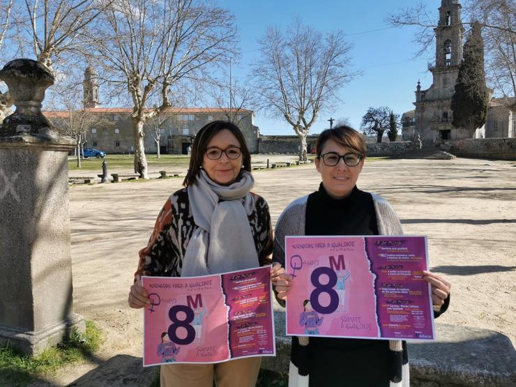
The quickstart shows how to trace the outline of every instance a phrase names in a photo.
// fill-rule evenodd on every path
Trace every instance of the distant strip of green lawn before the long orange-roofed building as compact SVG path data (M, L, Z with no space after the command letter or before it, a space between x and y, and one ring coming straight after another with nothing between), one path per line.
M156 158L155 155L146 155L149 167L160 167L165 171L173 172L174 168L186 168L190 162L190 156L187 155L161 155ZM128 168L132 169L134 163L134 155L107 155L105 158L86 158L81 160L81 167L77 167L77 159L73 156L68 157L68 169L70 171L93 171L98 174L102 173L102 162L106 160L107 170L110 168Z

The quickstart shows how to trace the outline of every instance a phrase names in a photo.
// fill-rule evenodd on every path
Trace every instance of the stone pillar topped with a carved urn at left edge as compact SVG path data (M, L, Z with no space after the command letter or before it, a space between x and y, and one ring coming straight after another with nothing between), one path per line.
M0 126L0 344L35 355L71 328L73 312L68 152L41 112L54 83L36 61L15 59L0 70L16 111Z

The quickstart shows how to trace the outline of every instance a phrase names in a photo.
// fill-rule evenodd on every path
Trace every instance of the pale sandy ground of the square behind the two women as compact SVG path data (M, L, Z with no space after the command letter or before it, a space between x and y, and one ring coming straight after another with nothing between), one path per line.
M316 190L313 165L258 171L255 192L273 222L291 200ZM126 303L137 250L182 179L70 188L75 311L107 333L98 362L141 357L142 313ZM384 196L406 234L429 237L430 264L453 282L441 323L489 328L516 342L516 163L488 160L379 160L358 187ZM70 383L95 365L61 372ZM93 372L91 372L93 373ZM87 377L83 377L87 383Z

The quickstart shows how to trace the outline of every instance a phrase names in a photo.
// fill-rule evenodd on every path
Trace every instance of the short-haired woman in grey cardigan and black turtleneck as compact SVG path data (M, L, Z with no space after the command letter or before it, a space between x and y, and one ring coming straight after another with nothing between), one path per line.
M321 185L280 215L273 261L284 267L285 236L403 234L400 219L385 199L356 188L364 159L365 144L356 130L337 126L319 135L315 166ZM432 285L437 316L448 308L450 283L423 274ZM292 278L287 273L280 277L275 291L282 301ZM409 386L407 346L400 340L293 337L289 386Z

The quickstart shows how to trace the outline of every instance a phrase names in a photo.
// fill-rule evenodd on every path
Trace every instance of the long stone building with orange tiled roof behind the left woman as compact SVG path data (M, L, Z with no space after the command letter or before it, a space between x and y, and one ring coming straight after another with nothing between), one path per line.
M84 148L96 148L106 153L132 153L134 136L131 113L126 107L98 107L99 88L96 70L89 66L84 71L84 100L86 112L98 119L97 125L88 128L85 134ZM158 118L147 121L144 137L146 153L157 153L157 142L153 139L156 128L159 135L160 153L186 154L195 134L215 120L227 121L229 109L218 107L176 107L169 108ZM54 125L59 126L59 119L69 116L67 111L43 112ZM238 127L241 128L251 153L258 152L259 128L254 125L254 112L239 109L236 112ZM153 135L151 135L151 133Z

